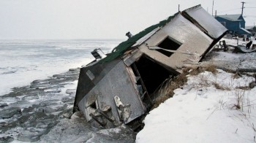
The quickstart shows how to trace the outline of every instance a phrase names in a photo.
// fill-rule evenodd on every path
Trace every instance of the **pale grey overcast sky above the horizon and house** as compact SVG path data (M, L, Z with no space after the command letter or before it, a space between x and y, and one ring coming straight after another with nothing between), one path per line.
M244 0L246 26L256 1ZM170 15L212 0L0 0L0 39L126 39ZM251 8L252 7L252 8ZM254 8L253 8L254 7ZM241 0L214 0L217 15L240 14Z

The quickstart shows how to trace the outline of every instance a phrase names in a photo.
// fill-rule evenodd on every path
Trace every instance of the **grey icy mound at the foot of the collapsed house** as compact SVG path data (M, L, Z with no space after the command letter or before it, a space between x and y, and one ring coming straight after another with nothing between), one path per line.
M82 113L76 112L71 119L61 120L39 142L135 142L135 133L121 125L117 128L91 128Z

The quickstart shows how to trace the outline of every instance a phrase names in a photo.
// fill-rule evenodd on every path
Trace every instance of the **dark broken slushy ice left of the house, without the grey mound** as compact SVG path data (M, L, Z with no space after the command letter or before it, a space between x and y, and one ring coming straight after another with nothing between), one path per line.
M34 142L61 118L71 117L78 73L79 69L70 69L0 96L1 137Z

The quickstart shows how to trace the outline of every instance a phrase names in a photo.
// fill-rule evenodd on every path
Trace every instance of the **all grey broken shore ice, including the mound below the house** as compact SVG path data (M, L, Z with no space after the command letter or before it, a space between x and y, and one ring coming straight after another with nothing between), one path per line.
M99 130L81 113L72 115L79 71L34 80L0 96L0 142L135 142L125 125Z

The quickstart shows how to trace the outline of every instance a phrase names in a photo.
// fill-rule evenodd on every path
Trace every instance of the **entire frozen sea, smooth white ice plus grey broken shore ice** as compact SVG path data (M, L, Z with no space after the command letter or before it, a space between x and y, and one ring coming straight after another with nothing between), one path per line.
M122 125L92 128L72 114L80 67L121 40L0 40L1 142L135 142Z

